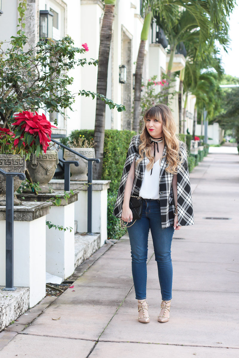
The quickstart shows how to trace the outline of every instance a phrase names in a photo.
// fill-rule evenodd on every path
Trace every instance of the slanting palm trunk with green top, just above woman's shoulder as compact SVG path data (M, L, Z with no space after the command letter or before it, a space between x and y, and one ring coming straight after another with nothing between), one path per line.
M140 98L141 98L142 72L143 72L143 64L144 64L144 50L145 50L145 42L148 39L151 19L152 19L152 11L149 11L144 18L144 24L141 32L141 41L139 45L139 52L137 57L136 70L135 70L133 131L137 133L139 132Z

